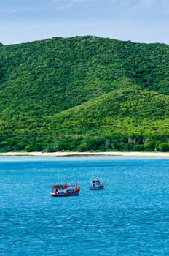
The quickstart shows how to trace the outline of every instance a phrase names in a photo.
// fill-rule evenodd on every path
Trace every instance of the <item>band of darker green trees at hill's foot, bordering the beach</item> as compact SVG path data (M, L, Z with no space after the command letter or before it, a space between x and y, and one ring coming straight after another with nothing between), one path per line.
M49 140L47 136L37 138L20 138L17 136L11 136L5 138L5 142L1 143L0 152L8 151L43 151L43 152L55 152L55 151L169 151L168 136L157 136L149 138L145 141L142 136L135 135L128 138L127 136L114 135L106 137L95 138L74 138L71 136L62 136L61 138L55 138L51 136L52 140Z

